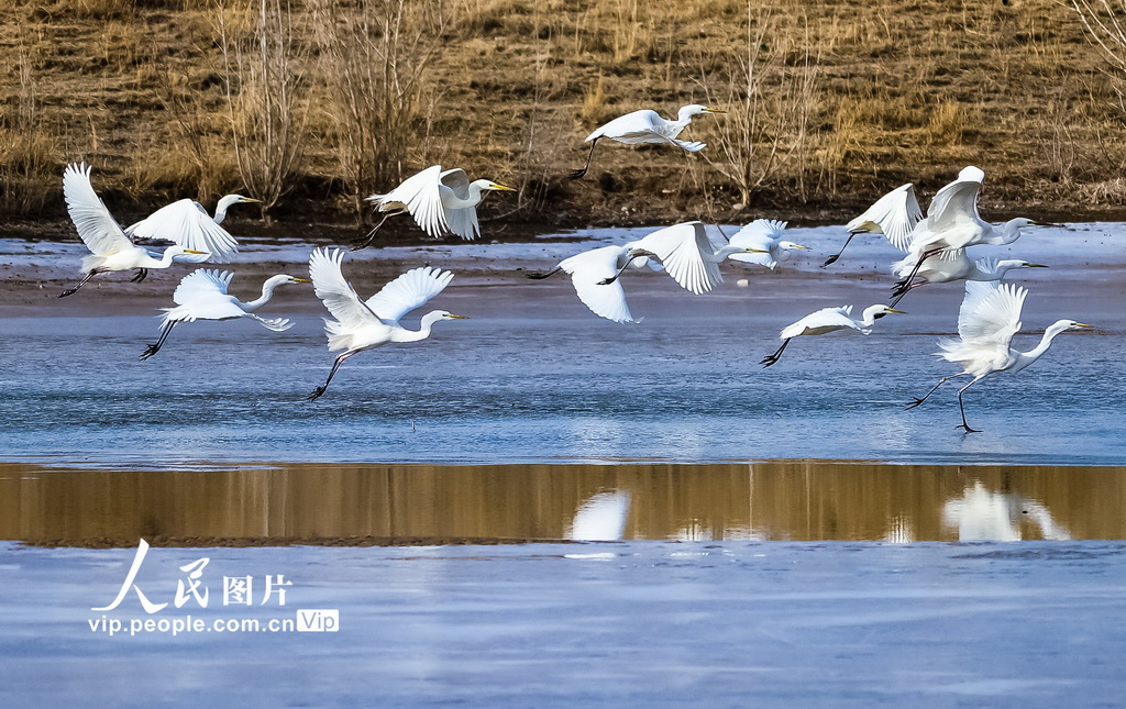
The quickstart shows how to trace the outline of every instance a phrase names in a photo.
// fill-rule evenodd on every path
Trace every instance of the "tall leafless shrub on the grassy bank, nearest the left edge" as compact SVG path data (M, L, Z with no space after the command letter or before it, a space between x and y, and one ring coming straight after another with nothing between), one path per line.
M250 17L218 0L214 19L235 162L265 214L292 188L302 156L307 45L287 0L257 0Z

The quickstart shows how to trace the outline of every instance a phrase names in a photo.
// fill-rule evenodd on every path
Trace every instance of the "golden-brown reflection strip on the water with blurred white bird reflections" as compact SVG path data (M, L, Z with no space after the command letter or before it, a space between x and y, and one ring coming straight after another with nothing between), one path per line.
M133 546L536 539L1126 539L1126 468L0 465L0 539Z

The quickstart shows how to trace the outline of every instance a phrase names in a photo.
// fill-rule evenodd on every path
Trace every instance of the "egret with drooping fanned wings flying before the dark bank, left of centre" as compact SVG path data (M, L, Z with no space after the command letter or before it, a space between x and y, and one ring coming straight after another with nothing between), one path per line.
M432 165L413 174L386 195L372 195L366 200L375 205L377 212L386 213L367 235L358 241L352 251L364 249L375 239L388 217L409 212L419 227L435 239L444 234L457 234L472 241L481 235L477 225L477 205L489 190L516 191L492 180L470 181L465 170L455 168L441 170Z

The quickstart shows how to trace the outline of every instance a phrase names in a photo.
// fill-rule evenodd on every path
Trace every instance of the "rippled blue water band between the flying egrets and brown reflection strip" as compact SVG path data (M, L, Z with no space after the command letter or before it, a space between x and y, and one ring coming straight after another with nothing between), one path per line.
M452 288L440 305L473 320L438 323L423 343L354 357L315 402L305 397L332 360L315 302L296 314L267 313L294 316L282 334L250 322L181 325L146 362L137 356L155 334L149 303L136 316L8 317L0 455L134 466L1126 463L1120 311L1109 322L1103 314L1098 332L1061 335L1024 373L975 385L967 416L984 432L966 436L955 428L953 385L920 409L902 406L956 371L931 352L937 333L953 329L957 287L927 303L911 296L915 314L886 317L868 338L798 339L762 369L757 362L777 347L779 327L839 298L778 302L731 284L694 298L653 276L631 285L631 306L646 316L636 326L591 316L565 281ZM878 298L857 288L857 303ZM1053 308L1082 304L1038 293L1039 306L1030 296L1025 313L1035 334L1018 335L1020 349L1066 315Z

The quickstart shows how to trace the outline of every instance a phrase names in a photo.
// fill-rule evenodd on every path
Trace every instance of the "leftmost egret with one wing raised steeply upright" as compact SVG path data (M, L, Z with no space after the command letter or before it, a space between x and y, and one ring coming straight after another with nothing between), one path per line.
M207 252L188 249L176 244L164 250L160 257L136 246L125 235L122 227L114 221L105 203L93 191L90 183L92 168L83 163L71 163L63 171L63 197L66 199L66 210L78 235L90 250L91 255L82 258L84 276L73 288L59 294L60 298L73 295L79 288L90 282L99 273L109 271L128 271L136 269L132 282L141 282L151 268L168 268L172 260L184 254L206 255Z

